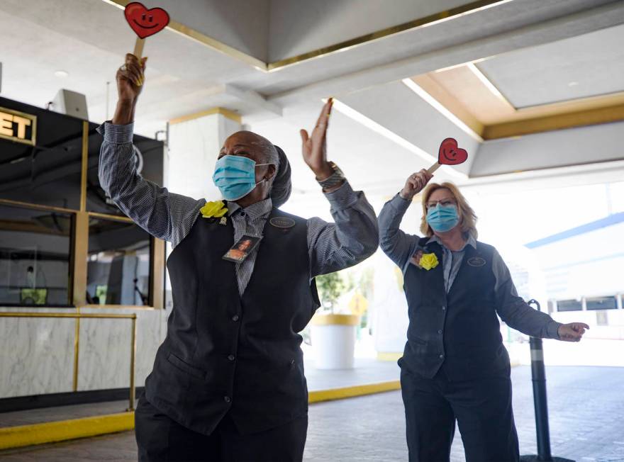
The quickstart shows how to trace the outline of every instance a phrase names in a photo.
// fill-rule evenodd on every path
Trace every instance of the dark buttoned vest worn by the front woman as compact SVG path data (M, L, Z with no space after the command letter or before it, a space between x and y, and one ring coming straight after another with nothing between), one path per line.
M301 332L316 308L309 280L307 222L277 209L294 227L267 224L254 272L238 294L231 220L198 218L167 260L174 308L167 337L145 381L147 400L176 422L211 434L229 412L248 434L304 414Z

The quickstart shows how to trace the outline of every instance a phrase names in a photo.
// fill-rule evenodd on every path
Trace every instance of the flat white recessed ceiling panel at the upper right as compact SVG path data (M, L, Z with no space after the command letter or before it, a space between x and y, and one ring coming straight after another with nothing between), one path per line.
M516 108L624 91L624 26L508 52L477 67Z

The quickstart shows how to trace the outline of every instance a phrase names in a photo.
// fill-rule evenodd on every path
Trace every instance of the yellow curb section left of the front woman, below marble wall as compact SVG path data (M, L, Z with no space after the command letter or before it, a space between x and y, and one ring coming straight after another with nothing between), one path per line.
M134 429L134 412L0 428L0 449L55 443Z

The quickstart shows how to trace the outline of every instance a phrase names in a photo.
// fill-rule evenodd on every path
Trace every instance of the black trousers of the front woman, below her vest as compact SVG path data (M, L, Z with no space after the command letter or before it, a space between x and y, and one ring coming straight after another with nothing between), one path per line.
M210 435L174 422L140 398L135 411L135 434L140 462L301 462L308 416L281 427L241 435L228 415Z

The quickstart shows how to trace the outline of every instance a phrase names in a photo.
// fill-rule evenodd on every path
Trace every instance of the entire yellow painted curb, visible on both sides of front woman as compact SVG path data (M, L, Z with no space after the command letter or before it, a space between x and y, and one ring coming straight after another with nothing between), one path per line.
M399 381L369 383L352 387L332 388L308 393L308 402L342 400L355 396L371 395L384 391L400 390ZM59 420L42 424L0 428L0 450L56 443L68 439L88 438L102 434L125 432L134 429L134 412Z

